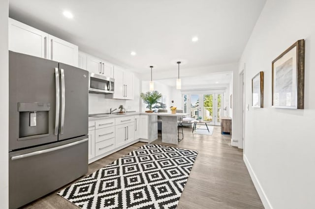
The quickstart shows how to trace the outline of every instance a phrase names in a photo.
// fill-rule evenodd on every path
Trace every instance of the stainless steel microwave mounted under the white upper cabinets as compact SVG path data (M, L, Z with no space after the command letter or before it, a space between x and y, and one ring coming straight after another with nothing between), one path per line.
M114 94L114 78L89 73L89 92L96 94Z

